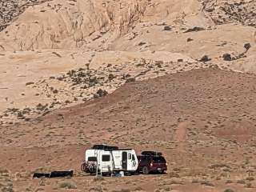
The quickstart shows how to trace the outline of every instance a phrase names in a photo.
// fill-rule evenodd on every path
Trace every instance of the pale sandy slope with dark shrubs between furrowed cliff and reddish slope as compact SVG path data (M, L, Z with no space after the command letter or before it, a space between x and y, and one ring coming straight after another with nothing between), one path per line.
M11 53L0 64L0 124L29 121L63 106L112 93L126 81L141 81L208 64L170 52Z

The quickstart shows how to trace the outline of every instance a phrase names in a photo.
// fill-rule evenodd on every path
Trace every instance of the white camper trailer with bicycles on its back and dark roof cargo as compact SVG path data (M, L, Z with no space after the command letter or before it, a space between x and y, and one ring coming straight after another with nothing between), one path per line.
M96 173L96 170L102 174L120 171L132 174L138 168L135 150L118 149L116 146L93 146L92 149L86 150L85 160L82 170L90 174Z

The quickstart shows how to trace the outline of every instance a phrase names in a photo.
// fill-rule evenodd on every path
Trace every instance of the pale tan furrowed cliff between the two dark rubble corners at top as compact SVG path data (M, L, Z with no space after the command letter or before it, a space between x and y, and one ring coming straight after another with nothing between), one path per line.
M23 6L9 3L14 14L10 14L8 21L17 18L25 7L27 9L8 29L2 31L0 49L107 50L111 42L127 34L138 22L153 25L158 22L177 22L179 18L183 18L183 14L184 17L190 17L198 15L200 10L197 0L161 3L157 0L54 0L38 6L28 6L34 5L33 3L39 4L38 1L25 3ZM2 29L8 25L8 22L0 23Z

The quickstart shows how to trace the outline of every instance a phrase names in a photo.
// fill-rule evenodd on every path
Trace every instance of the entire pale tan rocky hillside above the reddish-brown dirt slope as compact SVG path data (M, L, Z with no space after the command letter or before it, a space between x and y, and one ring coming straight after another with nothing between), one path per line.
M99 89L111 93L126 75L140 80L211 65L256 70L254 1L7 2L5 13L15 14L0 35L0 123L84 102ZM224 11L230 7L235 17ZM115 78L90 86L54 80L71 70Z

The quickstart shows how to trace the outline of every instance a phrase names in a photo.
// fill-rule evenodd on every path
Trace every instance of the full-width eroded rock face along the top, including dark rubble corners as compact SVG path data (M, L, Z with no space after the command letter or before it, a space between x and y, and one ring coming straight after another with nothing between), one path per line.
M138 23L256 26L252 0L8 0L0 7L0 50L110 50L114 40Z

